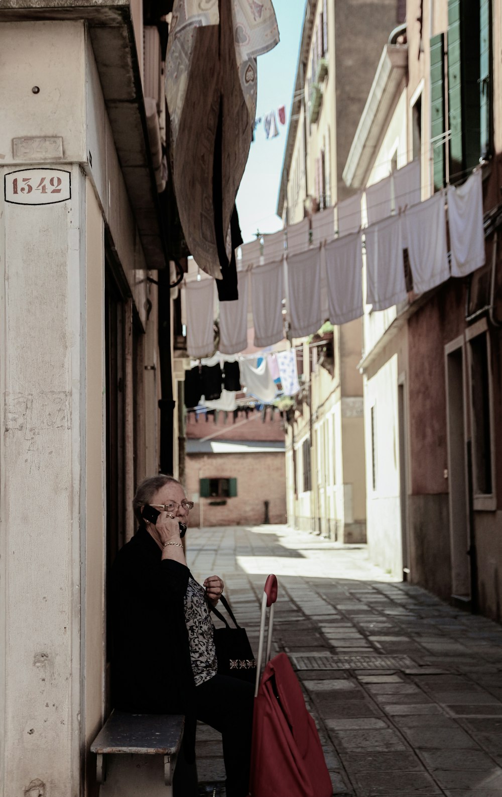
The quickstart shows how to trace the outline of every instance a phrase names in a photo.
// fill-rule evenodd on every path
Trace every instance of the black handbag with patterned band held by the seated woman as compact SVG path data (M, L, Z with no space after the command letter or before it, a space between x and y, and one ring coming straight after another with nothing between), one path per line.
M249 681L254 684L256 679L256 659L251 650L246 629L239 626L232 609L228 606L227 599L223 595L220 595L220 601L232 618L235 628L228 624L223 614L220 614L217 609L212 610L212 613L216 614L216 617L225 624L224 628L215 628L214 630L218 673L240 678L242 681Z

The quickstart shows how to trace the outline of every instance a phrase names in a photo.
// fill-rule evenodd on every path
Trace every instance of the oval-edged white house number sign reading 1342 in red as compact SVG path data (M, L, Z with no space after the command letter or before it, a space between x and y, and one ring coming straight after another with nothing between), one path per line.
M6 202L14 205L53 205L72 197L70 172L63 169L20 169L4 178Z

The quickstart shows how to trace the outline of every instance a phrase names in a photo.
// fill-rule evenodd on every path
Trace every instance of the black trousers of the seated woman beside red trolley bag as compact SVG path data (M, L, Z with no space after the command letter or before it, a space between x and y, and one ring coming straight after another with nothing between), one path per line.
M251 763L254 685L215 675L197 686L197 720L221 733L227 797L247 797Z

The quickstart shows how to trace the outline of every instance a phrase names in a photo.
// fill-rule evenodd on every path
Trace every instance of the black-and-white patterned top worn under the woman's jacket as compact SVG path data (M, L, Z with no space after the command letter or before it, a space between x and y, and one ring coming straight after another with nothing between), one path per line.
M216 675L216 647L204 587L191 575L185 594L185 622L189 631L193 679L199 686Z

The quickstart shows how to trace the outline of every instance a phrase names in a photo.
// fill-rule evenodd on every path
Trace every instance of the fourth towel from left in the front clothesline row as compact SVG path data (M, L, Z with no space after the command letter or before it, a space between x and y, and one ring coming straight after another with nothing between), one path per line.
M319 249L288 257L287 275L291 337L312 335L322 325Z

